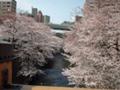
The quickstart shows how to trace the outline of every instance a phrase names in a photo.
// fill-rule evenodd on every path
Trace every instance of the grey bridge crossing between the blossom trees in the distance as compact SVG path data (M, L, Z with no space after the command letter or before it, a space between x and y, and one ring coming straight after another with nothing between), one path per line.
M62 24L48 24L48 26L50 26L52 29L55 30L66 30L66 31L70 31L70 25L62 25Z

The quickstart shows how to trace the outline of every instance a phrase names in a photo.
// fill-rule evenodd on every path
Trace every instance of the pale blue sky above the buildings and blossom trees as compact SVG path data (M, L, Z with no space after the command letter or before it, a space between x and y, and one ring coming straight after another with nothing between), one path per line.
M16 0L17 10L31 12L35 7L42 11L43 15L49 15L52 23L73 21L75 10L83 8L85 0Z

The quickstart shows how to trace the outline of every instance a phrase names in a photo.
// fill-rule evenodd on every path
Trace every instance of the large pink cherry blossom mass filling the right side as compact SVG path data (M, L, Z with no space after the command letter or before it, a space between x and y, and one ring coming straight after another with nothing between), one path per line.
M76 23L64 47L71 53L71 67L64 73L71 84L120 88L119 3L118 0L86 0L82 23Z

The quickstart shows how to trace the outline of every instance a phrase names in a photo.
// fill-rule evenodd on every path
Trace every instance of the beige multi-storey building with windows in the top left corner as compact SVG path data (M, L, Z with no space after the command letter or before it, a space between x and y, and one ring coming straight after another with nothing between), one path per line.
M16 13L15 0L0 0L0 14Z

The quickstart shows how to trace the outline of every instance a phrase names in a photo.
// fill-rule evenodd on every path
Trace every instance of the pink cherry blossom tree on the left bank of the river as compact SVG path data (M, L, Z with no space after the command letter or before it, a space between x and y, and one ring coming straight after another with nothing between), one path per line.
M54 36L48 26L31 17L16 15L16 20L5 20L0 29L2 37L14 45L21 67L18 75L31 78L43 73L41 67L48 62L46 59L52 59L62 48L62 40Z

